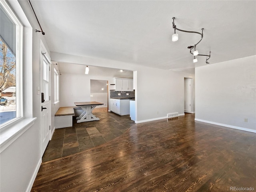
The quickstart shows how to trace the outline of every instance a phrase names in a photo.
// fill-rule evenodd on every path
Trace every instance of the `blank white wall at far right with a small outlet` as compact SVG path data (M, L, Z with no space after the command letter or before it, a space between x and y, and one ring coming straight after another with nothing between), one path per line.
M255 132L256 56L198 67L195 73L196 120Z

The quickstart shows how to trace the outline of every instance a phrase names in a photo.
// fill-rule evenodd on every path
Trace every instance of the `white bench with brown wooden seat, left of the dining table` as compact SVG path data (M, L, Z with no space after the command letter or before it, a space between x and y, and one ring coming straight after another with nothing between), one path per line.
M65 128L73 126L74 107L60 107L55 114L55 128Z

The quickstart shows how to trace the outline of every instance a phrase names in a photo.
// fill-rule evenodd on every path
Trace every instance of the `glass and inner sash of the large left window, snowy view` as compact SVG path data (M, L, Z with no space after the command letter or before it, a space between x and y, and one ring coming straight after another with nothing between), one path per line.
M22 25L4 2L0 2L0 128L22 118ZM4 95L4 92L13 94ZM2 94L4 96L2 96Z

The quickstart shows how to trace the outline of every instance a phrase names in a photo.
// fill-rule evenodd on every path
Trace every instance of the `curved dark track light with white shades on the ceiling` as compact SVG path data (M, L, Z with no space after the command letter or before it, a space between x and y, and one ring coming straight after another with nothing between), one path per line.
M195 31L185 31L185 30L181 30L181 29L178 29L178 28L176 28L176 25L174 24L174 19L175 19L175 17L173 17L172 18L172 28L174 28L174 34L172 35L172 41L177 41L179 38L178 38L178 34L176 33L176 30L178 30L178 31L182 31L182 32L186 32L186 33L197 33L197 34L200 34L201 35L201 39L200 39L200 41L198 42L198 43L200 43L201 42L201 40L203 39L203 30L204 30L204 28L202 28L202 33L199 33L199 32L195 32ZM197 46L197 44L198 43L196 43L196 44L194 44L194 45L190 45L190 46L188 46L188 49L190 49L190 54L193 54L194 55L194 59L193 59L193 62L195 63L195 62L197 62L197 58L195 58L195 56L197 56L197 55L199 55L199 56L207 56L206 57L206 63L208 64L208 59L210 59L210 57L211 57L211 52L209 52L209 55L202 55L202 54L199 54L198 53L198 50L196 50L196 46ZM192 53L191 52L191 50L194 48L194 52Z

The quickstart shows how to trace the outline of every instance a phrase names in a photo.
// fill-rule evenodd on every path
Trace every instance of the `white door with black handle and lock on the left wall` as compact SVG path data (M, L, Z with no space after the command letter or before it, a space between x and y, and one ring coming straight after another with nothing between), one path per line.
M41 156L50 140L50 56L41 44L40 90L41 90Z

